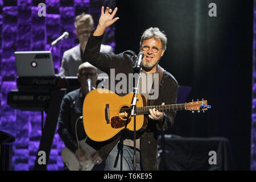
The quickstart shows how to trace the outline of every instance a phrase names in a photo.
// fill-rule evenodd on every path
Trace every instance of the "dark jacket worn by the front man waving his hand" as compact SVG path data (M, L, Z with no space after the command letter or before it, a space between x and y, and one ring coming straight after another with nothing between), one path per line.
M92 32L93 34L93 32ZM129 55L128 52L123 52L118 55L109 55L107 53L100 52L100 45L102 36L90 35L88 43L83 53L83 59L90 64L106 72L110 77L110 69L114 69L115 76L118 73L124 73L127 78L129 73L134 73L136 65L136 56ZM119 80L115 80L115 85ZM127 81L127 88L129 88L129 82ZM114 91L114 90L112 90ZM178 91L178 84L174 76L164 71L161 82L159 83L159 97L154 101L154 105L161 105L162 102L167 104L176 104ZM125 94L119 94L125 95ZM150 105L150 102L147 102ZM163 122L154 121L148 118L148 125L146 130L141 132L141 161L143 170L157 170L158 169L158 156L157 156L157 143L158 143L158 130L165 130L168 126L174 124L176 112L171 111L166 113ZM116 135L100 149L100 155L102 158L106 158L115 144L120 140L121 135Z

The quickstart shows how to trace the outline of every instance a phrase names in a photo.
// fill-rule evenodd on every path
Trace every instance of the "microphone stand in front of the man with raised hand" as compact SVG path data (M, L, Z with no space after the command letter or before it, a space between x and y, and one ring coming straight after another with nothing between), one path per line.
M135 67L136 69L136 67ZM138 94L138 89L139 89L139 80L141 79L141 73L142 73L142 68L139 70L139 77L138 77L138 82L137 86L134 89L134 94L133 94L133 101L131 102L131 117L134 117L134 128L133 128L133 135L134 135L134 141L133 141L133 169L136 171L136 102L137 102L137 94Z

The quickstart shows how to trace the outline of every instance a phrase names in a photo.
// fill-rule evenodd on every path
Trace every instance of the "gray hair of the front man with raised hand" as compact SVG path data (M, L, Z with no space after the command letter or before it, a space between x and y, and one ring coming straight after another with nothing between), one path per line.
M164 34L164 31L160 31L159 28L156 28L156 27L155 28L150 27L143 32L141 36L141 42L139 43L139 45L141 46L144 40L151 39L151 38L160 39L162 43L162 48L164 50L166 49L166 44L167 44L166 35Z

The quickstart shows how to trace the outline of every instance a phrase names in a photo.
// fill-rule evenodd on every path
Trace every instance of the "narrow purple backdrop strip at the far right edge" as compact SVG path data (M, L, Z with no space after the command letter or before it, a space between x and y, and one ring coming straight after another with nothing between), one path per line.
M254 0L254 22L253 22L253 101L251 113L251 170L256 171L256 0Z

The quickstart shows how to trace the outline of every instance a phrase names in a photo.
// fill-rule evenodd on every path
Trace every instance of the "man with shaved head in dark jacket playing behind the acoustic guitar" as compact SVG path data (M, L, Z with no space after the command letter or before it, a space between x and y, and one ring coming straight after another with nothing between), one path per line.
M86 156L86 151L81 150L81 147L78 148L75 131L77 128L77 138L79 140L85 139L86 134L84 131L84 126L82 125L82 122L77 122L77 127L75 125L77 118L82 116L82 105L84 98L86 94L89 93L89 88L86 81L90 78L90 80L92 80L92 87L96 88L97 68L86 62L79 66L78 72L77 78L81 87L69 92L63 97L58 119L58 133L60 138L64 141L65 146L76 155L76 158L79 159L80 162L85 162L88 160L88 156ZM90 146L94 144L97 145L95 142L90 142ZM97 150L99 146L94 145L92 147ZM94 164L100 164L102 162L98 152L94 153L91 158ZM100 167L97 166L95 168L100 169ZM64 166L64 169L68 170L67 166Z

